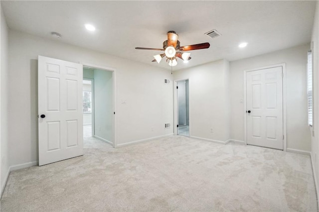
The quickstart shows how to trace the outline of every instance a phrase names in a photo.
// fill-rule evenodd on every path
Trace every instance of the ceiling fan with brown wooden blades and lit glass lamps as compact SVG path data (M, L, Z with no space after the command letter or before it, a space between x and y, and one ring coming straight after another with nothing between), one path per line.
M152 62L157 61L160 63L163 57L166 57L166 62L168 61L169 66L177 65L177 58L182 59L184 62L187 62L191 59L190 53L185 51L197 50L197 49L207 49L209 48L209 43L199 43L189 46L180 46L178 35L174 31L167 32L167 40L163 42L162 49L156 48L143 48L136 47L135 49L144 49L144 50L158 50L164 51L162 54L154 55L154 60Z

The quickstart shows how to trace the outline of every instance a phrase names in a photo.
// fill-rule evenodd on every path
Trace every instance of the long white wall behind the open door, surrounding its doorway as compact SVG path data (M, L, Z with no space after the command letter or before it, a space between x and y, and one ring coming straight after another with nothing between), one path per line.
M164 123L173 122L172 85L164 84L172 80L170 71L9 30L10 165L38 160L38 55L116 69L118 144L172 133L164 129Z

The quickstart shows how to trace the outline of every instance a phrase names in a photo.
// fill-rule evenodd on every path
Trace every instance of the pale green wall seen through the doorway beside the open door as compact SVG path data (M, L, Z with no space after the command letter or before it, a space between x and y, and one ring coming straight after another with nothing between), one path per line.
M113 143L113 72L94 69L95 135Z

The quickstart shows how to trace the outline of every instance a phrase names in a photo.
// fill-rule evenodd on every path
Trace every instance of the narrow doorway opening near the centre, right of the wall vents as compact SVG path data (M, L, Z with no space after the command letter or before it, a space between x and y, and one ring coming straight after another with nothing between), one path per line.
M189 137L188 80L177 81L177 135Z

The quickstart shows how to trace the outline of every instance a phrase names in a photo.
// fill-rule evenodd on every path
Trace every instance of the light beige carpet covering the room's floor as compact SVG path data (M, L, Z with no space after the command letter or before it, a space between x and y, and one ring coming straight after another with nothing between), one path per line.
M11 172L1 211L317 211L310 157L171 136Z

